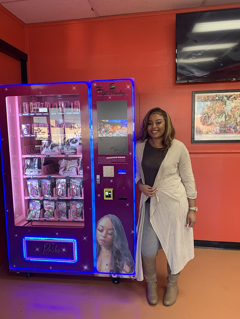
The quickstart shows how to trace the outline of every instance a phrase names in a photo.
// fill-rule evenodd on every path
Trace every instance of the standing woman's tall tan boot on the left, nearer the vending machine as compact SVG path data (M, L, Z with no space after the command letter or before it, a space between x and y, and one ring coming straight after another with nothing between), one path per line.
M143 274L148 283L147 299L151 305L158 303L157 297L157 273L156 273L156 255L150 258L142 256Z

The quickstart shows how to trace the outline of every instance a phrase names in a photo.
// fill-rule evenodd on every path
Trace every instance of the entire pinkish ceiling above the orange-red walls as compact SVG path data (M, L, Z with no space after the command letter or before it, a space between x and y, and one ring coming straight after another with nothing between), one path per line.
M24 23L73 20L112 15L230 4L234 0L0 0ZM240 3L240 0L235 0ZM199 9L201 10L201 9Z

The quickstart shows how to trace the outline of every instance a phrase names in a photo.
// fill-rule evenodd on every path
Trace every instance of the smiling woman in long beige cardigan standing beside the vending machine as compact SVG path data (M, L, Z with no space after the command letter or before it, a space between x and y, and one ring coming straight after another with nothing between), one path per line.
M163 303L177 299L180 270L194 257L196 186L188 150L174 139L170 116L161 108L145 115L137 137L136 178L141 193L137 225L137 280L148 283L148 302L158 302L156 256L167 257L167 290ZM143 271L142 271L143 266Z

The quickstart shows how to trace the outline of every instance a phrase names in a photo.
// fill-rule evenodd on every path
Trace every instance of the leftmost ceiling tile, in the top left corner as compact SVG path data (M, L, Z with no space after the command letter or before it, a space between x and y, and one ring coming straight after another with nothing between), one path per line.
M24 23L96 17L87 0L20 0L2 5Z

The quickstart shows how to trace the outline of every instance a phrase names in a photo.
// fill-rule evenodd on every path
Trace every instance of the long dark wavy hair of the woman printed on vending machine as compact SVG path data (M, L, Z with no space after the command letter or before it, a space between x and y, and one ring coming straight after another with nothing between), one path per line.
M134 261L130 250L128 248L128 241L124 232L123 225L118 217L115 215L105 215L101 219L99 219L96 227L96 236L98 231L98 225L100 221L104 218L109 218L113 225L114 235L113 235L113 243L111 247L111 258L110 265L112 269L110 272L115 273L126 273L124 267L127 265L130 268L130 271L127 273L132 274L134 272ZM101 246L96 240L96 248L97 248L97 260L101 252Z

